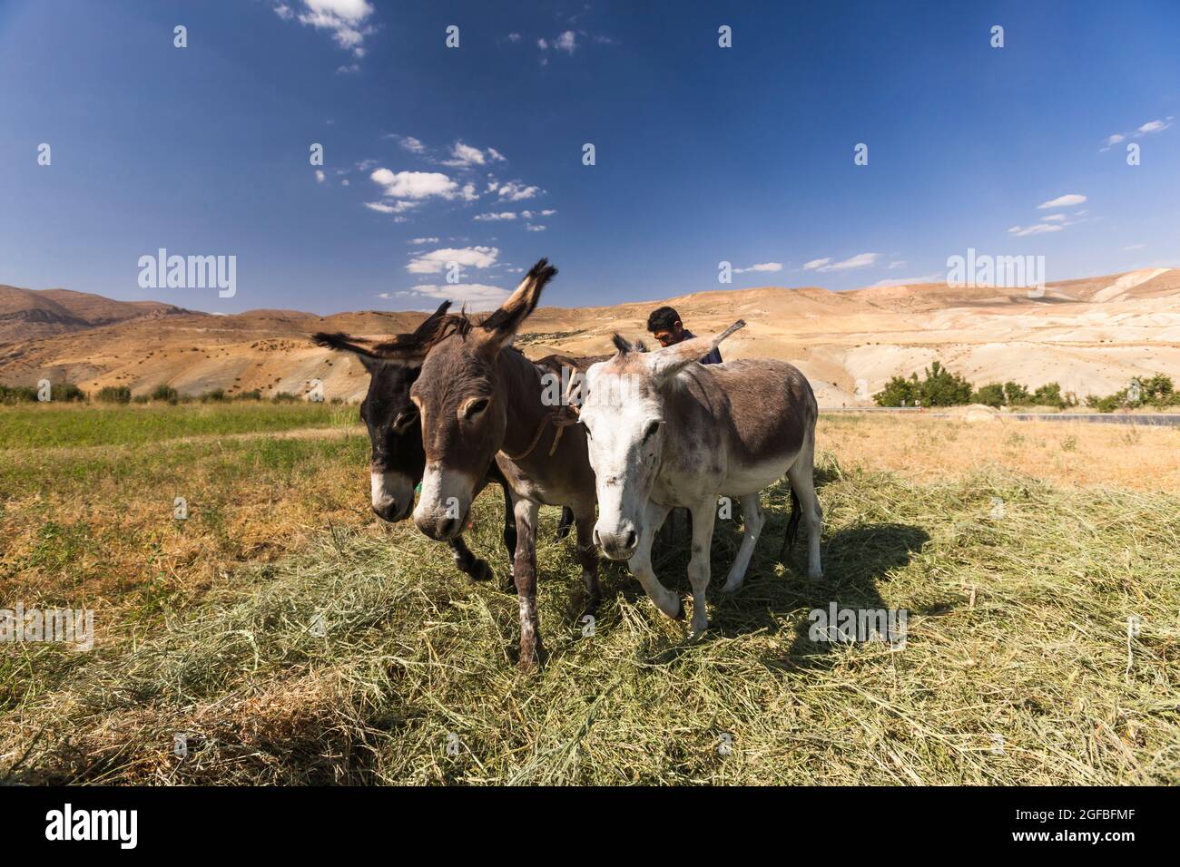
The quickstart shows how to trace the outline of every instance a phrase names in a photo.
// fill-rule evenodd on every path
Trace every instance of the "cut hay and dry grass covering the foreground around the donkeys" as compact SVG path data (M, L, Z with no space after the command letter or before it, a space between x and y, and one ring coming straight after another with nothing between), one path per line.
M184 413L199 409L171 407L159 429L189 438ZM288 429L330 423L283 418ZM688 639L621 564L604 564L588 635L573 541L553 539L557 510L545 510L548 659L522 676L514 596L470 583L413 526L368 514L367 438L330 433L132 436L93 455L26 439L0 455L0 607L84 598L98 632L90 652L0 644L0 780L1180 780L1180 497L1058 487L1001 467L913 481L866 468L851 446L826 451L821 421L824 579L804 577L801 550L786 567L773 561L780 487L763 498L746 586L710 593L704 636ZM31 460L39 475L11 466ZM186 486L206 493L178 523L171 488ZM96 490L125 500L63 514ZM503 578L498 493L477 503L468 540ZM59 530L46 533L51 523ZM715 576L739 540L719 521ZM657 552L664 583L687 595L686 565L678 549ZM907 610L904 648L811 641L808 613L832 602Z

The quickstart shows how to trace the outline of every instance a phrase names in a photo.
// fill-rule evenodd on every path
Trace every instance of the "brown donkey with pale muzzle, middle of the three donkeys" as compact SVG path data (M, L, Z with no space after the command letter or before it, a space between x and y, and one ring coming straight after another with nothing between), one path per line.
M512 494L517 525L513 578L520 603L519 665L540 658L537 624L537 511L568 505L578 531L578 558L592 609L601 598L595 523L594 472L585 433L566 426L570 416L543 379L545 368L511 348L540 291L557 274L542 260L504 304L481 322L444 329L409 389L421 415L426 472L414 523L432 539L448 540L464 526L481 480L498 466ZM398 359L394 344L380 357Z

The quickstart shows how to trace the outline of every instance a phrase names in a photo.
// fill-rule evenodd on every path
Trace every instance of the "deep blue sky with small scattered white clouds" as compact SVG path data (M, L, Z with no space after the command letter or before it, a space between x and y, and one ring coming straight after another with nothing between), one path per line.
M0 0L0 283L326 314L540 256L558 306L1180 264L1174 0L721 6ZM140 288L162 247L236 295Z

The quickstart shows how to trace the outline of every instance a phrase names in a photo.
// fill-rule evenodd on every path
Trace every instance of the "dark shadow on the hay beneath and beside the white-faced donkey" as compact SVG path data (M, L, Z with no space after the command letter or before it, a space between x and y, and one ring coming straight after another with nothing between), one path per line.
M815 468L817 488L833 478L832 473ZM892 521L859 524L831 534L825 531L821 540L824 577L811 580L806 577L807 546L801 527L782 566L779 565L779 547L791 513L789 498L789 486L786 482L763 492L766 524L746 573L746 583L733 595L721 593L719 587L729 564L736 557L742 527L739 520L717 521L710 552L714 583L709 587L708 631L699 639L686 636L684 642L674 646L653 649L647 662L673 662L699 641L733 638L759 631L769 635L793 631L789 649L779 657L765 659L765 664L784 670L821 668L827 665L824 657L833 649L833 644L811 641L808 636L813 622L808 618L808 612L819 609L827 613L833 602L838 610L877 611L890 607L881 598L879 585L890 579L893 570L906 566L913 554L920 552L930 540L930 534L922 527ZM653 565L666 586L688 593L689 530L684 526L688 515L676 515L674 512L669 515L669 521L676 518L678 524L674 528L675 540L670 545L657 543L653 550ZM627 571L625 564L617 565L622 569L610 569L603 576L605 599L622 593L628 602L642 604L647 600L642 586ZM616 571L621 577L615 574ZM909 613L933 611L911 609ZM788 618L791 624L787 623Z

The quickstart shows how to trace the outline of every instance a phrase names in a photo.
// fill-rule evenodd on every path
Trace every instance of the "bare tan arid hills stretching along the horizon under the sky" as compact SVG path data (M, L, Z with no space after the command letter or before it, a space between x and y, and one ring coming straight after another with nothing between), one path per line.
M673 304L704 335L741 317L726 357L778 357L807 374L820 406L867 403L894 374L939 360L981 385L1060 382L1108 394L1133 376L1180 379L1180 269L1149 269L1025 289L945 284L720 289L614 307L539 308L517 346L537 357L609 350L610 335L644 337L648 313ZM314 346L314 331L387 335L421 313L250 310L229 316L162 302L111 301L65 289L0 285L0 382L77 382L86 390L166 383L182 393L222 388L359 400L368 376L354 359ZM650 342L650 341L649 341Z

